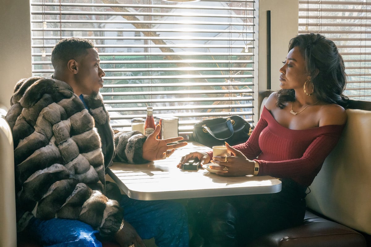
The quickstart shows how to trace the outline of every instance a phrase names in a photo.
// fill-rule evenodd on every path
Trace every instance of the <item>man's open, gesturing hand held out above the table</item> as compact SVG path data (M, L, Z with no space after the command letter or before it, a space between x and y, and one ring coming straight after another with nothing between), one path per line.
M167 138L164 140L157 139L156 136L160 133L161 126L158 124L155 130L147 137L143 143L143 158L145 160L154 161L162 160L169 157L174 153L175 148L184 147L187 142L176 143L173 145L167 145L168 143L173 143L183 140L183 137L178 136L174 138Z

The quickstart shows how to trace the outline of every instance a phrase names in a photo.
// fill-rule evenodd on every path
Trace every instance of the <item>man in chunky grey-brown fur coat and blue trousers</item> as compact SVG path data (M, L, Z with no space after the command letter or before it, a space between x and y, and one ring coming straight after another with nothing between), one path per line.
M139 201L106 182L112 160L146 163L166 158L182 137L158 140L138 131L114 134L99 89L104 71L91 41L59 41L50 79L22 79L14 88L7 120L13 131L17 228L44 246L188 246L184 207Z

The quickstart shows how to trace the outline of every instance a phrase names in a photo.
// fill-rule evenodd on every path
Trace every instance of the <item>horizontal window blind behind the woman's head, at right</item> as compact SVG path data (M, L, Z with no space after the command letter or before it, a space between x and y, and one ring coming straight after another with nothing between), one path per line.
M350 99L371 101L371 1L299 0L299 34L321 33L345 62Z

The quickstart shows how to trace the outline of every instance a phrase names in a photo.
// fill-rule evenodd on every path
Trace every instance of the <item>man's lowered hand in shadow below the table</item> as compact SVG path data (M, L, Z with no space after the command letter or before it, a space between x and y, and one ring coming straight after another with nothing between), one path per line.
M115 240L120 247L128 247L134 244L135 247L145 247L141 237L137 231L127 221L124 222L122 229L115 234Z

